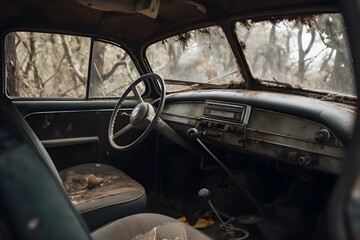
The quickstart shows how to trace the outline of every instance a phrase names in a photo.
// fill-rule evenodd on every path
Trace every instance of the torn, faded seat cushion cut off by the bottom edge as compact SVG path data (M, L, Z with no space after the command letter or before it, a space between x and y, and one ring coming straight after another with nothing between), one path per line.
M119 219L99 228L91 235L95 240L211 239L174 218L153 213L141 213Z

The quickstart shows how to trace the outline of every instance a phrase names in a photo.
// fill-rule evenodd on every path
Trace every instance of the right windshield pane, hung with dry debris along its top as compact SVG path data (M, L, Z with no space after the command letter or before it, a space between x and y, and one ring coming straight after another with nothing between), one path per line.
M255 78L356 95L341 14L243 21L236 23L235 31Z

